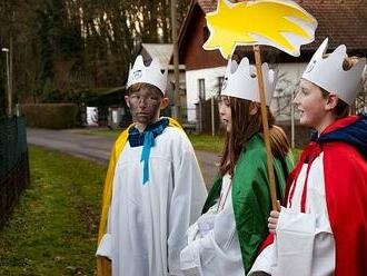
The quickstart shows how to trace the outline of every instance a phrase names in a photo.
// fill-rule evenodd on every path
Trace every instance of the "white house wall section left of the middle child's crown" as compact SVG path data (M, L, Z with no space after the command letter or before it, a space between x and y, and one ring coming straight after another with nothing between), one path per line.
M199 101L199 79L204 79L205 98L210 99L219 91L219 77L224 77L226 67L216 67L200 70L186 71L186 98L187 98L187 119L197 121L195 103Z

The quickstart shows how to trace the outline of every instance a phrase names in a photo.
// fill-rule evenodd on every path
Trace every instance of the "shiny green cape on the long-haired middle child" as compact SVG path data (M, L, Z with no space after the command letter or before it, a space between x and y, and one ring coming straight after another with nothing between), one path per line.
M282 198L286 179L294 167L291 155L284 161L274 158L277 190ZM222 178L217 176L205 203L202 213L219 198ZM268 217L271 210L267 156L262 138L255 135L245 146L232 177L232 205L242 262L248 273L260 243L268 236Z

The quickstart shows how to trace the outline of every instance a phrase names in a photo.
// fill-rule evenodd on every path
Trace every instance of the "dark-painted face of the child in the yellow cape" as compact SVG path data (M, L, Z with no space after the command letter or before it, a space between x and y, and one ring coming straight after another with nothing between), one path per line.
M148 87L141 87L126 97L133 121L142 127L157 121L162 99L162 93L158 89Z

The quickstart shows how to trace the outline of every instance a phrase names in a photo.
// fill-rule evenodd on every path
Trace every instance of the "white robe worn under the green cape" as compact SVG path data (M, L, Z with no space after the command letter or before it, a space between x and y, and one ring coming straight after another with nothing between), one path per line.
M224 201L227 193L227 200ZM188 230L188 245L181 252L181 269L187 276L245 275L228 175L222 178L220 195L220 203Z

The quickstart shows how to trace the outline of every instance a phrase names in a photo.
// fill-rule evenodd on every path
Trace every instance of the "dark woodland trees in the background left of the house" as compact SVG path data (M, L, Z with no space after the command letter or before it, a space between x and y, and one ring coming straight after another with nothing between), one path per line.
M188 3L178 1L179 22ZM170 42L169 4L169 0L0 1L0 46L12 40L16 101L47 101L56 93L121 86L142 41ZM4 83L1 73L0 91ZM0 96L0 107L1 102Z

